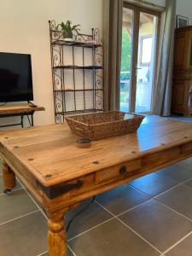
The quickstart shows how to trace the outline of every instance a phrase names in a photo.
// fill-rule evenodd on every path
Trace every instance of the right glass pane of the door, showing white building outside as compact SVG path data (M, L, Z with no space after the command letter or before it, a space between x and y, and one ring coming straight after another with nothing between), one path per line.
M153 101L157 17L140 12L139 18L135 112L146 113Z

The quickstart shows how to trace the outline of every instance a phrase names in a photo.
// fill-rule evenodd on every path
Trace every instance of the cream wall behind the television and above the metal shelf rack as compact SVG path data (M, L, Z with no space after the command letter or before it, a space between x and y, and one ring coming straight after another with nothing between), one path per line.
M72 20L82 32L102 28L102 0L2 0L0 51L32 54L34 103L46 108L35 125L55 122L49 50L49 23Z

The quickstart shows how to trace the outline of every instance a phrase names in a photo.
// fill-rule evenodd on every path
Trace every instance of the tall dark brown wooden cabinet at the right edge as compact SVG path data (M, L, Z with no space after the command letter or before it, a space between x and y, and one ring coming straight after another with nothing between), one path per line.
M189 89L192 86L192 26L176 29L172 82L172 113L192 114Z

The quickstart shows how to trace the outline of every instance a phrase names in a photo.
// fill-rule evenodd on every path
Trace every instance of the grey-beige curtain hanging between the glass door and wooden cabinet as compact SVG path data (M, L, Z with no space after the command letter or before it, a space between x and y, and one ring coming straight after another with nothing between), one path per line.
M162 15L160 55L153 109L155 114L162 116L171 114L175 20L176 1L166 0L166 11Z

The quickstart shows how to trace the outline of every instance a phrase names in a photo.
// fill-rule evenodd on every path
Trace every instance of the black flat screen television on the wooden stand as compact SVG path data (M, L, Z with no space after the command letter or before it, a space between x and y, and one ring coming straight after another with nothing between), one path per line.
M32 100L31 55L0 52L0 102Z

